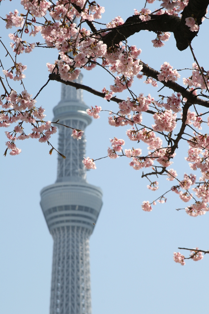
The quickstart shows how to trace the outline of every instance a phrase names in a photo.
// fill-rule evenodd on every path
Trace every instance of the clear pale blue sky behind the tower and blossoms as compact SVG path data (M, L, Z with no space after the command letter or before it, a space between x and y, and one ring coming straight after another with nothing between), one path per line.
M101 0L99 4L105 7L101 22L108 23L117 15L125 21L134 13L134 8L140 10L144 6L144 1ZM154 10L158 5L156 1L150 7ZM19 1L2 1L0 16L5 17L15 8L22 12ZM1 23L4 26L4 22ZM204 21L198 37L192 41L197 60L206 70L209 68L208 23L208 20ZM9 51L8 33L11 31L1 28ZM141 48L142 61L157 70L165 61L176 69L191 67L194 61L190 50L178 51L173 34L162 48L154 48L152 39L155 34L141 31L129 38L128 44ZM28 40L41 42L40 37ZM2 46L0 50L4 56ZM53 63L56 58L55 50L42 48L19 57L19 61L28 66L24 84L30 94L35 95L46 83L49 74L46 62ZM3 60L4 67L9 68L8 57ZM104 86L108 89L113 80L104 72L98 68L83 70L83 83L99 91ZM182 78L188 77L191 71L180 74L178 82L182 84ZM158 88L154 88L143 81L137 80L133 91L144 95L150 93L158 100L157 90L163 85L159 83ZM18 84L14 86L17 89ZM18 90L21 91L21 87ZM171 95L166 89L161 93ZM105 110L117 110L117 104L85 91L83 94L89 107L98 105ZM128 93L125 91L117 96L126 99ZM60 98L61 84L55 81L37 97L37 106L46 109L47 120L53 119L52 109ZM126 137L127 127L109 126L107 112L100 116L86 129L87 156L93 159L105 156L109 139L114 136L125 139L125 148L131 148L132 143ZM144 122L152 119L147 116L144 115ZM39 203L40 190L56 181L57 154L53 152L50 156L46 143L30 139L18 143L22 149L20 155L8 154L5 158L4 131L0 132L0 313L48 314L53 241ZM57 138L58 133L51 138L55 147ZM187 150L187 143L181 143L172 165L180 179L184 172L191 172L184 160ZM90 238L92 314L174 314L200 310L206 313L209 257L205 256L199 262L188 260L183 267L174 263L173 252L179 251L179 246L208 249L209 213L193 218L184 210L176 211L175 208L184 207L185 203L174 193L168 195L165 204L154 206L152 212L142 211L142 201L157 198L172 186L172 182L159 178L159 190L149 191L148 181L141 178L142 171L134 171L128 165L129 161L127 158L99 160L97 169L87 173L88 182L101 187L104 193L103 207ZM185 251L182 253L186 255Z

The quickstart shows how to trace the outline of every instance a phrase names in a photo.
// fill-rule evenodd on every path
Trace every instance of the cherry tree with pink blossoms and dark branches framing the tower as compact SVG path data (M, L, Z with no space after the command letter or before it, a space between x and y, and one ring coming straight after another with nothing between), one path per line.
M148 6L154 2L159 8L151 12ZM8 38L11 41L10 50L0 39L0 82L3 90L0 96L0 127L8 130L5 132L7 148L4 155L8 150L10 155L20 154L21 149L17 148L16 143L27 138L47 142L51 146L49 154L56 150L49 139L56 133L55 125L59 122L53 122L52 125L52 122L46 121L45 110L36 98L51 80L62 82L107 100L110 105L109 124L114 127L129 127L126 131L129 143L127 148L123 149L124 139L114 137L110 139L111 147L107 149L107 156L98 159L129 158L129 165L133 169L143 170L142 178L149 181L147 188L152 191L158 190L156 177L166 176L167 181L173 181L169 190L153 202L143 201L142 210L152 211L156 201L164 203L165 195L174 192L183 202L191 202L184 208L188 215L196 217L206 214L209 211L209 134L202 133L201 130L206 124L209 126L209 116L206 116L209 113L209 71L199 64L191 44L201 31L201 24L207 19L209 0L164 0L162 3L147 0L143 8L133 9L134 14L125 22L117 16L104 23L98 20L102 18L105 8L95 1L21 0L20 3L21 13L14 8L6 17L1 17L2 24L4 23L2 27L11 29ZM3 5L2 0L0 4ZM139 57L141 49L128 44L128 38L142 30L153 33L153 50L163 47L171 33L176 41L176 49L190 49L194 58L189 69L190 77L183 78L182 81L179 72L185 69L174 69L166 61L158 70L145 64ZM33 42L38 33L43 39L41 43ZM50 72L49 79L33 97L24 88L27 66L18 59L24 53L32 56L35 49L40 47L46 48L49 54L51 49L57 49L58 57L54 63L46 64ZM4 67L4 58L10 59L10 68ZM101 69L101 75L106 71L111 76L112 85L108 89L104 87L98 91L75 81L82 68L92 70L95 67ZM154 87L161 83L163 86L159 91L164 87L171 91L159 95L156 100L150 94L144 96L141 91L139 93L133 90L131 86L134 79L144 79L145 84ZM124 90L129 92L127 99L114 95ZM112 101L118 104L117 112L111 110ZM87 113L98 119L102 111L104 110L100 106L95 106L89 108ZM150 124L142 122L143 115L150 116ZM25 123L31 125L29 134L24 131ZM82 130L72 129L75 140L82 136ZM180 141L188 145L188 154L183 158L188 161L192 173L178 174L177 178L177 172L171 165ZM142 151L142 142L147 144L148 153ZM136 147L132 147L134 144ZM62 152L58 153L65 158ZM83 164L87 169L96 169L95 161L98 159L87 157ZM197 169L201 172L199 180L196 180L193 173ZM183 208L177 210L180 209ZM203 258L203 253L209 253L198 247L179 249L190 250L190 257L187 258L180 252L174 252L174 261L181 265L185 264L185 259L198 261Z

